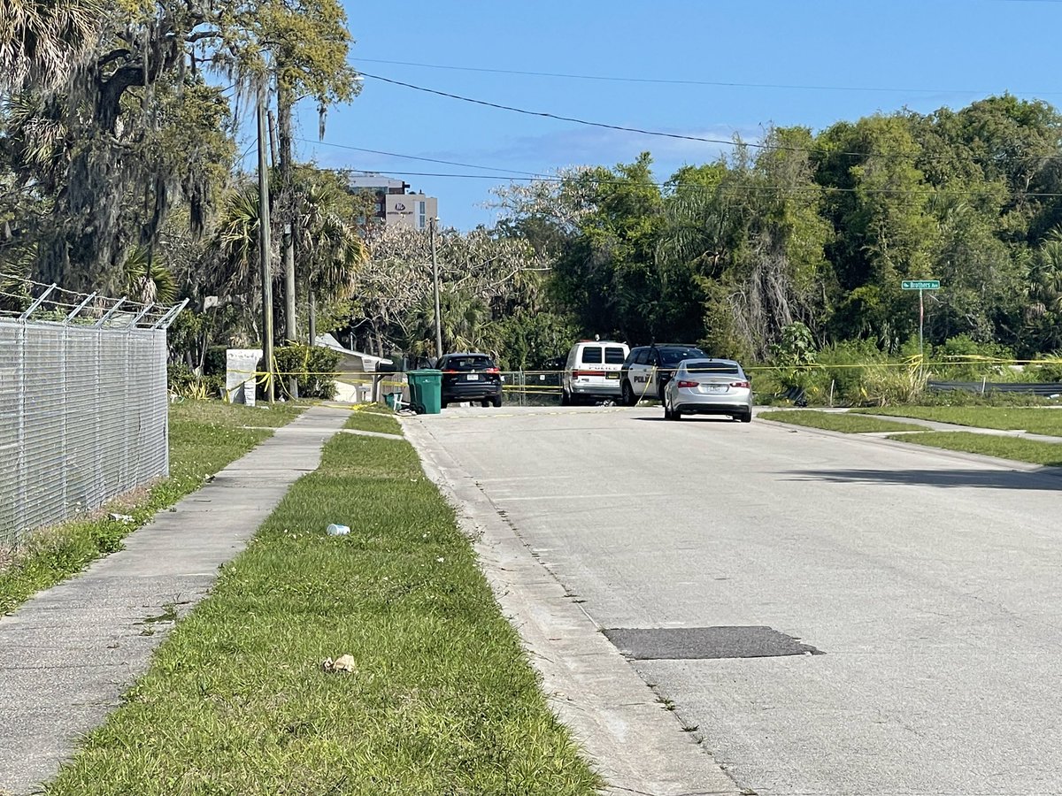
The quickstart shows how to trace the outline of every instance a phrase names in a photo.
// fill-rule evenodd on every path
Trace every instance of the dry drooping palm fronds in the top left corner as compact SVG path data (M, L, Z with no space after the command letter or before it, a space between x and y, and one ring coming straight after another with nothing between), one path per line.
M0 93L63 86L100 38L98 0L0 0Z

